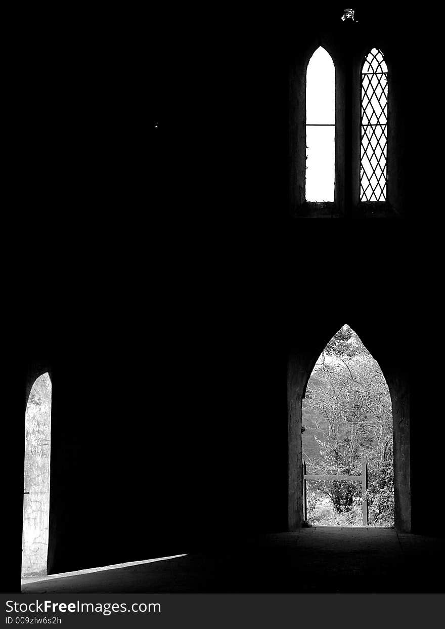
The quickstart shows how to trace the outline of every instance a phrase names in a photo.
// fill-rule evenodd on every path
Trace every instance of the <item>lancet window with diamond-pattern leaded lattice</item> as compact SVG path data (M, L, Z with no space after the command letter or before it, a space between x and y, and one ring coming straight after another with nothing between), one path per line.
M360 200L387 198L388 69L373 48L361 70Z

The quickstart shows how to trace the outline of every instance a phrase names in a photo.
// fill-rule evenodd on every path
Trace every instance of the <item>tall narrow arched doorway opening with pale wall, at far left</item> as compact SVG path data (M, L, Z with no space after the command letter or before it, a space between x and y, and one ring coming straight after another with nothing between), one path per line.
M47 574L50 515L51 379L34 382L25 411L25 481L21 574Z

